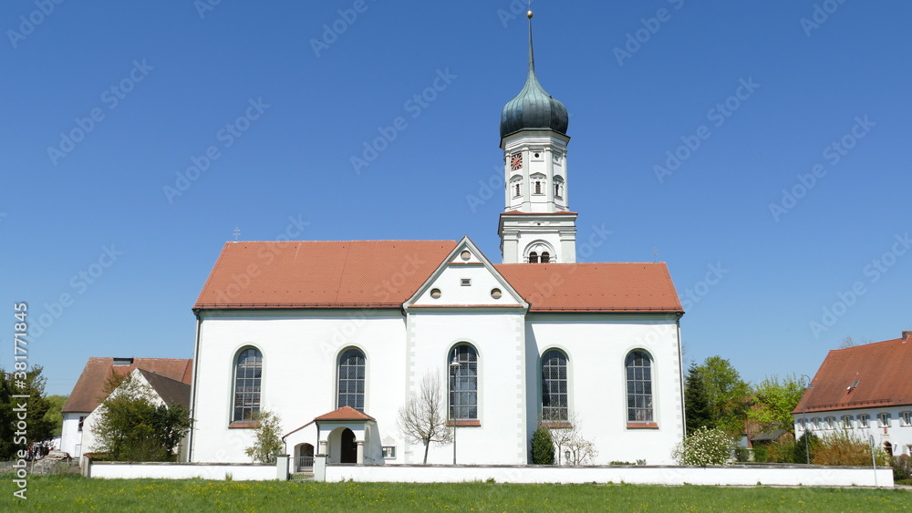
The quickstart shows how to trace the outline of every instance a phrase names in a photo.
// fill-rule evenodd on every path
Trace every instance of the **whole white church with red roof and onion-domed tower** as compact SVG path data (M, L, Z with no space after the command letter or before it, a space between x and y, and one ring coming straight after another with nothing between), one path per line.
M681 303L664 263L576 262L567 120L530 38L501 116L503 263L468 237L226 243L193 306L191 461L249 461L270 410L295 457L420 463L398 412L437 374L457 447L429 463L526 464L543 416L578 423L592 463L670 463Z

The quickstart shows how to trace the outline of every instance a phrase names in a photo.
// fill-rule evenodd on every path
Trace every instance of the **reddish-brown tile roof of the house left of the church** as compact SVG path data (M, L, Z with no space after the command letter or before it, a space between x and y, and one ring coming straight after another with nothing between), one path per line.
M176 358L132 358L129 365L114 365L114 358L92 357L88 359L82 374L73 387L73 392L67 397L63 405L64 413L91 412L104 400L105 382L111 371L116 374L130 374L139 367L150 373L159 374L179 381L185 385L191 384L192 360Z

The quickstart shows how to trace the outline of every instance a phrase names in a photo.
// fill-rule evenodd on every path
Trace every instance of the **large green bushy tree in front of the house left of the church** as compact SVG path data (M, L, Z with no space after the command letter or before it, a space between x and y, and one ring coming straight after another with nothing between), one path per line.
M187 409L161 404L134 374L112 372L104 391L108 396L98 405L92 428L98 451L115 461L173 461L192 426Z

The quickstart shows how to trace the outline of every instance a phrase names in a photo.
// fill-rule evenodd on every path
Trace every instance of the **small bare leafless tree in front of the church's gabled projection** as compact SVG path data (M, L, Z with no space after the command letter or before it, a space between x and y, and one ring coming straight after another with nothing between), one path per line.
M399 431L413 442L424 444L424 464L428 463L431 442L449 444L452 430L447 426L446 405L440 385L440 374L428 372L421 378L418 395L399 408Z

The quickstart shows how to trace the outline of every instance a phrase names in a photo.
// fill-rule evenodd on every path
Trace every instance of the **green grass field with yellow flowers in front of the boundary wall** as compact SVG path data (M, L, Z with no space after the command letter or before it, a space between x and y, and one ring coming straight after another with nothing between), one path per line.
M645 487L461 483L233 482L202 479L29 477L27 499L4 476L18 508L48 511L891 511L912 509L899 489ZM8 506L2 508L10 510Z

